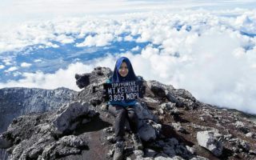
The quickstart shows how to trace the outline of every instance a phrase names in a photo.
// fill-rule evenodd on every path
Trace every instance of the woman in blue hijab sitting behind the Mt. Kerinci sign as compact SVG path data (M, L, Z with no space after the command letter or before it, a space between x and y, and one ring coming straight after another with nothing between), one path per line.
M140 80L134 74L134 69L130 63L130 60L126 57L118 58L112 77L110 77L106 83L113 82L127 82ZM144 88L145 89L145 88ZM110 101L108 102L108 110L115 117L114 130L115 130L115 152L114 160L122 159L122 152L124 149L124 135L125 135L125 122L126 119L130 124L130 130L132 131L132 139L135 149L142 150L142 142L138 134L138 115L134 110L136 100L122 100L122 101Z

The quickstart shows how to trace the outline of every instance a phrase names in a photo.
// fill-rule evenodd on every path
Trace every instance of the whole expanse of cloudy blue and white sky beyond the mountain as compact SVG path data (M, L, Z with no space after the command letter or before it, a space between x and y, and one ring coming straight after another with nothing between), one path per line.
M80 90L74 74L113 69L256 114L256 1L0 2L0 88ZM63 81L65 79L65 81Z

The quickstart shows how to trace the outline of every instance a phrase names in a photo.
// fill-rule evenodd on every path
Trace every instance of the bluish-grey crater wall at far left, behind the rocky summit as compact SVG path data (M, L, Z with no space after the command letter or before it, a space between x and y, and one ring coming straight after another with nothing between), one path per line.
M63 104L73 101L78 92L66 88L43 90L38 88L0 89L0 133L10 122L24 114L58 110Z

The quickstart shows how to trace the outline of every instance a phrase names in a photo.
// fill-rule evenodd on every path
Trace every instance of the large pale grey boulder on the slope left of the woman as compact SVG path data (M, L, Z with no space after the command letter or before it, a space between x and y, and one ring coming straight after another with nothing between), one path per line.
M52 122L53 131L55 134L69 133L74 130L78 124L82 123L79 121L79 118L90 119L96 115L97 112L90 109L89 103L72 102L58 110L58 114Z

